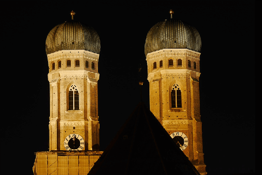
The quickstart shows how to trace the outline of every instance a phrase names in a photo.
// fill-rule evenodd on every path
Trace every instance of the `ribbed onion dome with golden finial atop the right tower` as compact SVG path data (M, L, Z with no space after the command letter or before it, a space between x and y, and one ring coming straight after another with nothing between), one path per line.
M145 54L162 49L190 49L200 52L201 38L197 29L181 20L166 19L154 25L147 34Z

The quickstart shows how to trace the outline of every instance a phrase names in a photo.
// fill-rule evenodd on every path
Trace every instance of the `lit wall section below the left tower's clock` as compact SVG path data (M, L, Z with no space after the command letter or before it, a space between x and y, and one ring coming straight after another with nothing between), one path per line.
M34 175L87 175L102 151L35 153Z

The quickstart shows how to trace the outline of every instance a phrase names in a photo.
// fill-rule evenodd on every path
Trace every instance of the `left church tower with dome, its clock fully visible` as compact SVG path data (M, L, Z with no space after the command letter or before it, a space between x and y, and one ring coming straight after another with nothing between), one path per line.
M97 32L73 15L49 32L49 150L99 150L99 52Z

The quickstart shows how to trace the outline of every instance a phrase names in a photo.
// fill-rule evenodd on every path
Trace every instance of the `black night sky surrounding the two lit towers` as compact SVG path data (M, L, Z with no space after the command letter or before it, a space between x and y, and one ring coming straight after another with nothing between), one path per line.
M143 101L149 107L145 40L150 28L170 18L169 10L173 9L173 18L195 26L202 39L200 113L208 174L255 172L255 1L1 1L1 4L1 68L4 69L1 101L5 104L1 114L1 175L33 174L34 152L49 149L45 40L54 26L70 20L71 10L76 12L75 19L92 26L101 40L98 64L101 151L140 101L140 63ZM258 5L261 7L261 2Z

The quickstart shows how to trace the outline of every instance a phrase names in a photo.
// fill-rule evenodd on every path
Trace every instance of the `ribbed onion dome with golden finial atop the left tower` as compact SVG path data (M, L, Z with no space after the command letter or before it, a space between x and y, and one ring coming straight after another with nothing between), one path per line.
M61 50L86 50L100 53L98 33L92 27L73 20L72 16L72 20L58 24L47 36L46 53Z

